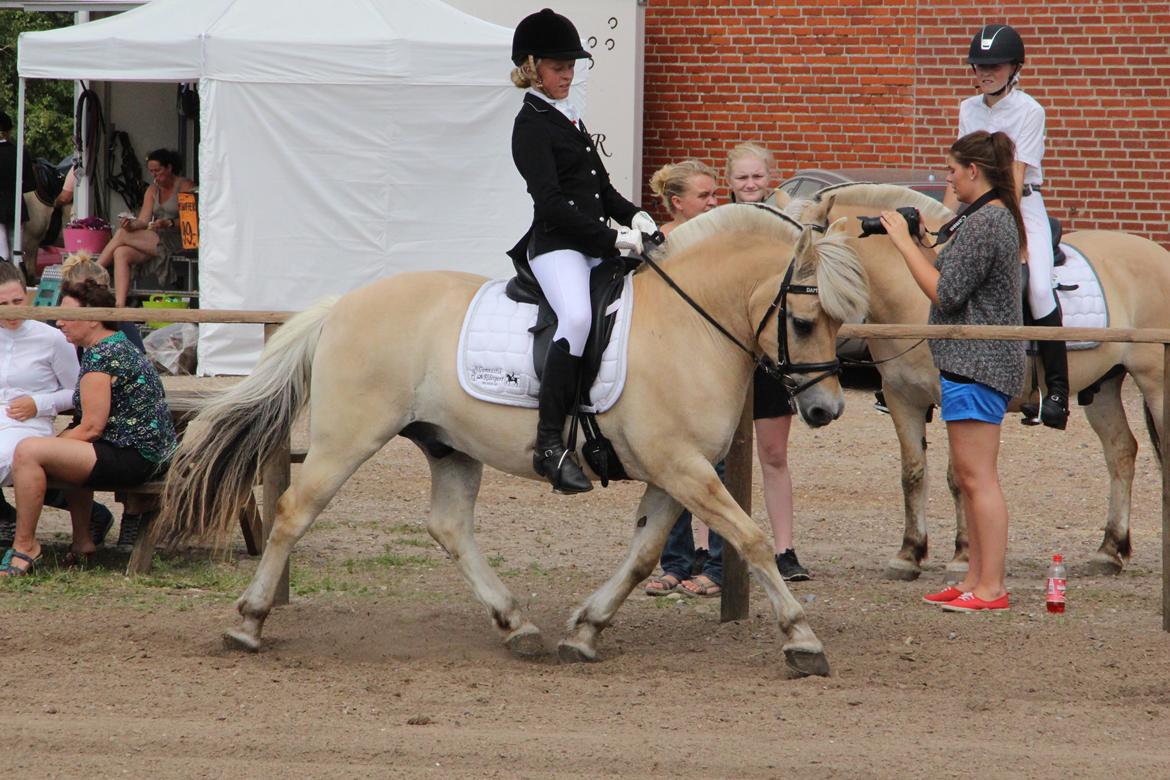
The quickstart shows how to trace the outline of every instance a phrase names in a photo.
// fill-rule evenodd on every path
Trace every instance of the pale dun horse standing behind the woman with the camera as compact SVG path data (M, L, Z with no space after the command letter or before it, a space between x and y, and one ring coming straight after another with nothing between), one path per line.
M937 230L952 214L938 202L904 187L874 184L837 185L821 189L812 200L798 200L785 212L806 225L827 225L839 220L874 215L896 206L915 206L927 227ZM869 323L925 323L930 304L914 283L906 263L886 236L851 239L861 257L872 290ZM1170 253L1157 243L1126 233L1082 230L1066 235L1064 242L1093 261L1108 304L1110 326L1170 327ZM902 455L902 491L906 497L906 531L902 548L887 564L886 574L894 579L914 579L927 555L925 517L925 416L940 401L938 372L925 343L914 340L873 339L869 351L882 377L886 403L894 419ZM904 352L904 354L902 354ZM901 356L901 357L896 357ZM1124 373L1114 371L1120 366ZM1094 571L1106 574L1121 572L1130 554L1129 510L1134 482L1134 458L1137 441L1126 420L1121 403L1124 374L1137 382L1145 400L1147 424L1150 414L1155 449L1162 440L1162 346L1158 344L1101 344L1092 350L1068 353L1069 384L1079 392L1094 384L1100 389L1085 408L1089 424L1101 440L1109 469L1109 510L1104 539L1090 559ZM1031 372L1030 372L1031 375ZM1031 384L1031 382L1030 382ZM1031 394L1034 388L1025 389ZM1017 399L1012 409L1019 408ZM1060 433L1049 432L1058 444ZM1158 451L1161 457L1161 451ZM955 559L950 571L966 567L966 527L958 491L948 474L955 498L957 533ZM1041 477L1042 478L1042 477Z

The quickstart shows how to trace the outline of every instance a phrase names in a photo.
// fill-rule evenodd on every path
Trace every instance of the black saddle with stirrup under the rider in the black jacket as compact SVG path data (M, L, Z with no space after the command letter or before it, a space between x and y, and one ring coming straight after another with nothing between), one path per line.
M603 260L590 272L590 304L593 312L593 324L589 339L585 341L585 352L581 356L581 373L578 384L577 406L573 409L573 422L569 433L569 449L576 449L577 426L580 424L585 432L585 443L581 446L581 455L585 462L597 474L601 481L601 486L607 488L611 479L628 479L621 461L608 439L601 434L597 423L597 415L581 409L583 403L590 403L589 393L593 380L597 379L601 366L601 356L610 344L613 334L613 325L617 320L614 301L621 295L626 275L638 268L641 260L638 257L611 257ZM538 378L544 374L544 360L552 345L552 336L557 332L557 315L541 291L541 284L532 274L528 257L512 257L512 265L516 267L516 276L508 281L504 295L516 303L535 304L537 308L536 324L529 329L532 334L532 370Z

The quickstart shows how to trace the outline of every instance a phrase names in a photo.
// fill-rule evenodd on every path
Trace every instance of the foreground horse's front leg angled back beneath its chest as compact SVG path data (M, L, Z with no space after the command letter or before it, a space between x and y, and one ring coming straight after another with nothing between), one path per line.
M569 619L569 634L557 647L558 655L565 662L596 661L597 639L618 607L629 596L639 582L654 571L666 537L679 519L682 505L652 484L646 485L646 492L638 504L634 537L629 543L629 552L605 585L590 595L585 603L573 612Z

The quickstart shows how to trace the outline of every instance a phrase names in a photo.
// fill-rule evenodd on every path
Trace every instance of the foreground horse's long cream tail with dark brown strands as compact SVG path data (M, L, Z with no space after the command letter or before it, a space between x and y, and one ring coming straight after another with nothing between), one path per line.
M158 516L158 539L174 546L201 540L222 550L252 502L257 454L288 441L309 400L309 378L322 326L337 298L282 325L242 382L206 401L171 461Z

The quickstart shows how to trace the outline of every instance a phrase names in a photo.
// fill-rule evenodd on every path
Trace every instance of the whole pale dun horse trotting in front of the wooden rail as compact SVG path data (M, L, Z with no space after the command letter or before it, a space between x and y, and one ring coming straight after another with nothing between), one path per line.
M810 378L813 363L835 361L838 324L865 312L865 276L844 236L801 234L775 209L717 208L675 230L663 254L661 267L679 287L751 351L780 352L779 326L771 322L779 302L784 354L793 364L808 361L805 373L790 365L791 381ZM805 285L814 281L819 295L792 295L785 308L778 290L790 261L792 278ZM211 401L192 423L170 469L161 536L171 543L202 538L222 545L250 497L256 453L282 441L303 406L310 412L304 465L278 502L263 558L238 602L243 622L226 634L229 647L259 648L292 545L358 465L401 435L431 465L428 532L488 607L509 649L544 651L539 630L473 537L484 463L536 478L536 413L475 400L456 377L461 318L452 313L467 310L483 282L457 272L402 274L317 304L281 327L253 374ZM815 290L793 287L792 292ZM749 562L785 635L792 671L828 674L821 643L777 573L763 532L711 465L728 451L756 357L736 348L660 276L638 274L633 295L625 391L598 421L626 472L647 486L629 552L573 613L558 647L562 660L597 657L599 634L653 571L667 532L687 506ZM844 394L835 375L807 387L798 403L810 424L837 419Z

